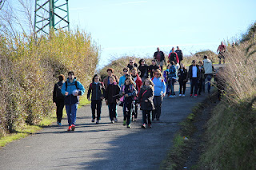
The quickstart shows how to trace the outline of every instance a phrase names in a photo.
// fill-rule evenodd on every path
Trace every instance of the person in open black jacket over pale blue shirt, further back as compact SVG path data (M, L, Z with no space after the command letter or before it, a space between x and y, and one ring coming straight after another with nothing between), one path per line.
M196 65L196 61L192 61L192 65L190 65L188 78L190 79L190 97L193 96L194 89L194 97L198 97L198 78L199 78L200 70L199 65Z

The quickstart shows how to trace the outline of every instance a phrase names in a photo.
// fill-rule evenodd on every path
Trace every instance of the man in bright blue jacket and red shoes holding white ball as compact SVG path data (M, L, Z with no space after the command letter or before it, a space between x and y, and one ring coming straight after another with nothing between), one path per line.
M78 96L82 96L83 93L85 93L85 88L77 81L76 77L74 77L74 72L70 71L68 78L62 85L62 94L65 95L64 104L66 105L66 114L69 123L67 131L74 131L79 102Z

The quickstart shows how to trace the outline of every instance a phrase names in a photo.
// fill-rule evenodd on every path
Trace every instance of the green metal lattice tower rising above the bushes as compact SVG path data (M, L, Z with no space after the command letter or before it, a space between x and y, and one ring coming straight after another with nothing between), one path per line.
M34 30L49 34L50 29L70 30L68 0L35 0Z

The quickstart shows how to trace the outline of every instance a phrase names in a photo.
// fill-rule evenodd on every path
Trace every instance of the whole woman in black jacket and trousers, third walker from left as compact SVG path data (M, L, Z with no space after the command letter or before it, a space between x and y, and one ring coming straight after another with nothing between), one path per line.
M91 99L90 99L91 93ZM102 99L105 96L105 87L104 84L101 82L100 76L95 74L93 77L92 83L89 85L87 99L91 101L90 108L92 113L92 120L91 122L95 121L95 109L97 109L97 121L96 125L99 124L99 120L101 120L101 113L102 113Z

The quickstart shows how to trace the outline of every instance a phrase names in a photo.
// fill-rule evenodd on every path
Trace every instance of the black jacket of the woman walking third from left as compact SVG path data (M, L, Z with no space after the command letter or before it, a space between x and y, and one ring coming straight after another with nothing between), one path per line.
M105 97L105 87L102 82L90 83L87 98L89 99L91 93L91 100L102 100L101 97Z

